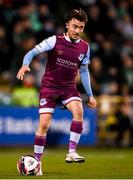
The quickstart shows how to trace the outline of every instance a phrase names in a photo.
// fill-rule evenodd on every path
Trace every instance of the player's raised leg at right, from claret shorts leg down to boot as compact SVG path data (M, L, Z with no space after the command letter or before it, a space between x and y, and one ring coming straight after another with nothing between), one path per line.
M84 158L76 153L83 129L83 106L82 100L76 87L65 89L62 96L62 104L72 112L73 119L70 126L69 153L66 162L84 162Z

